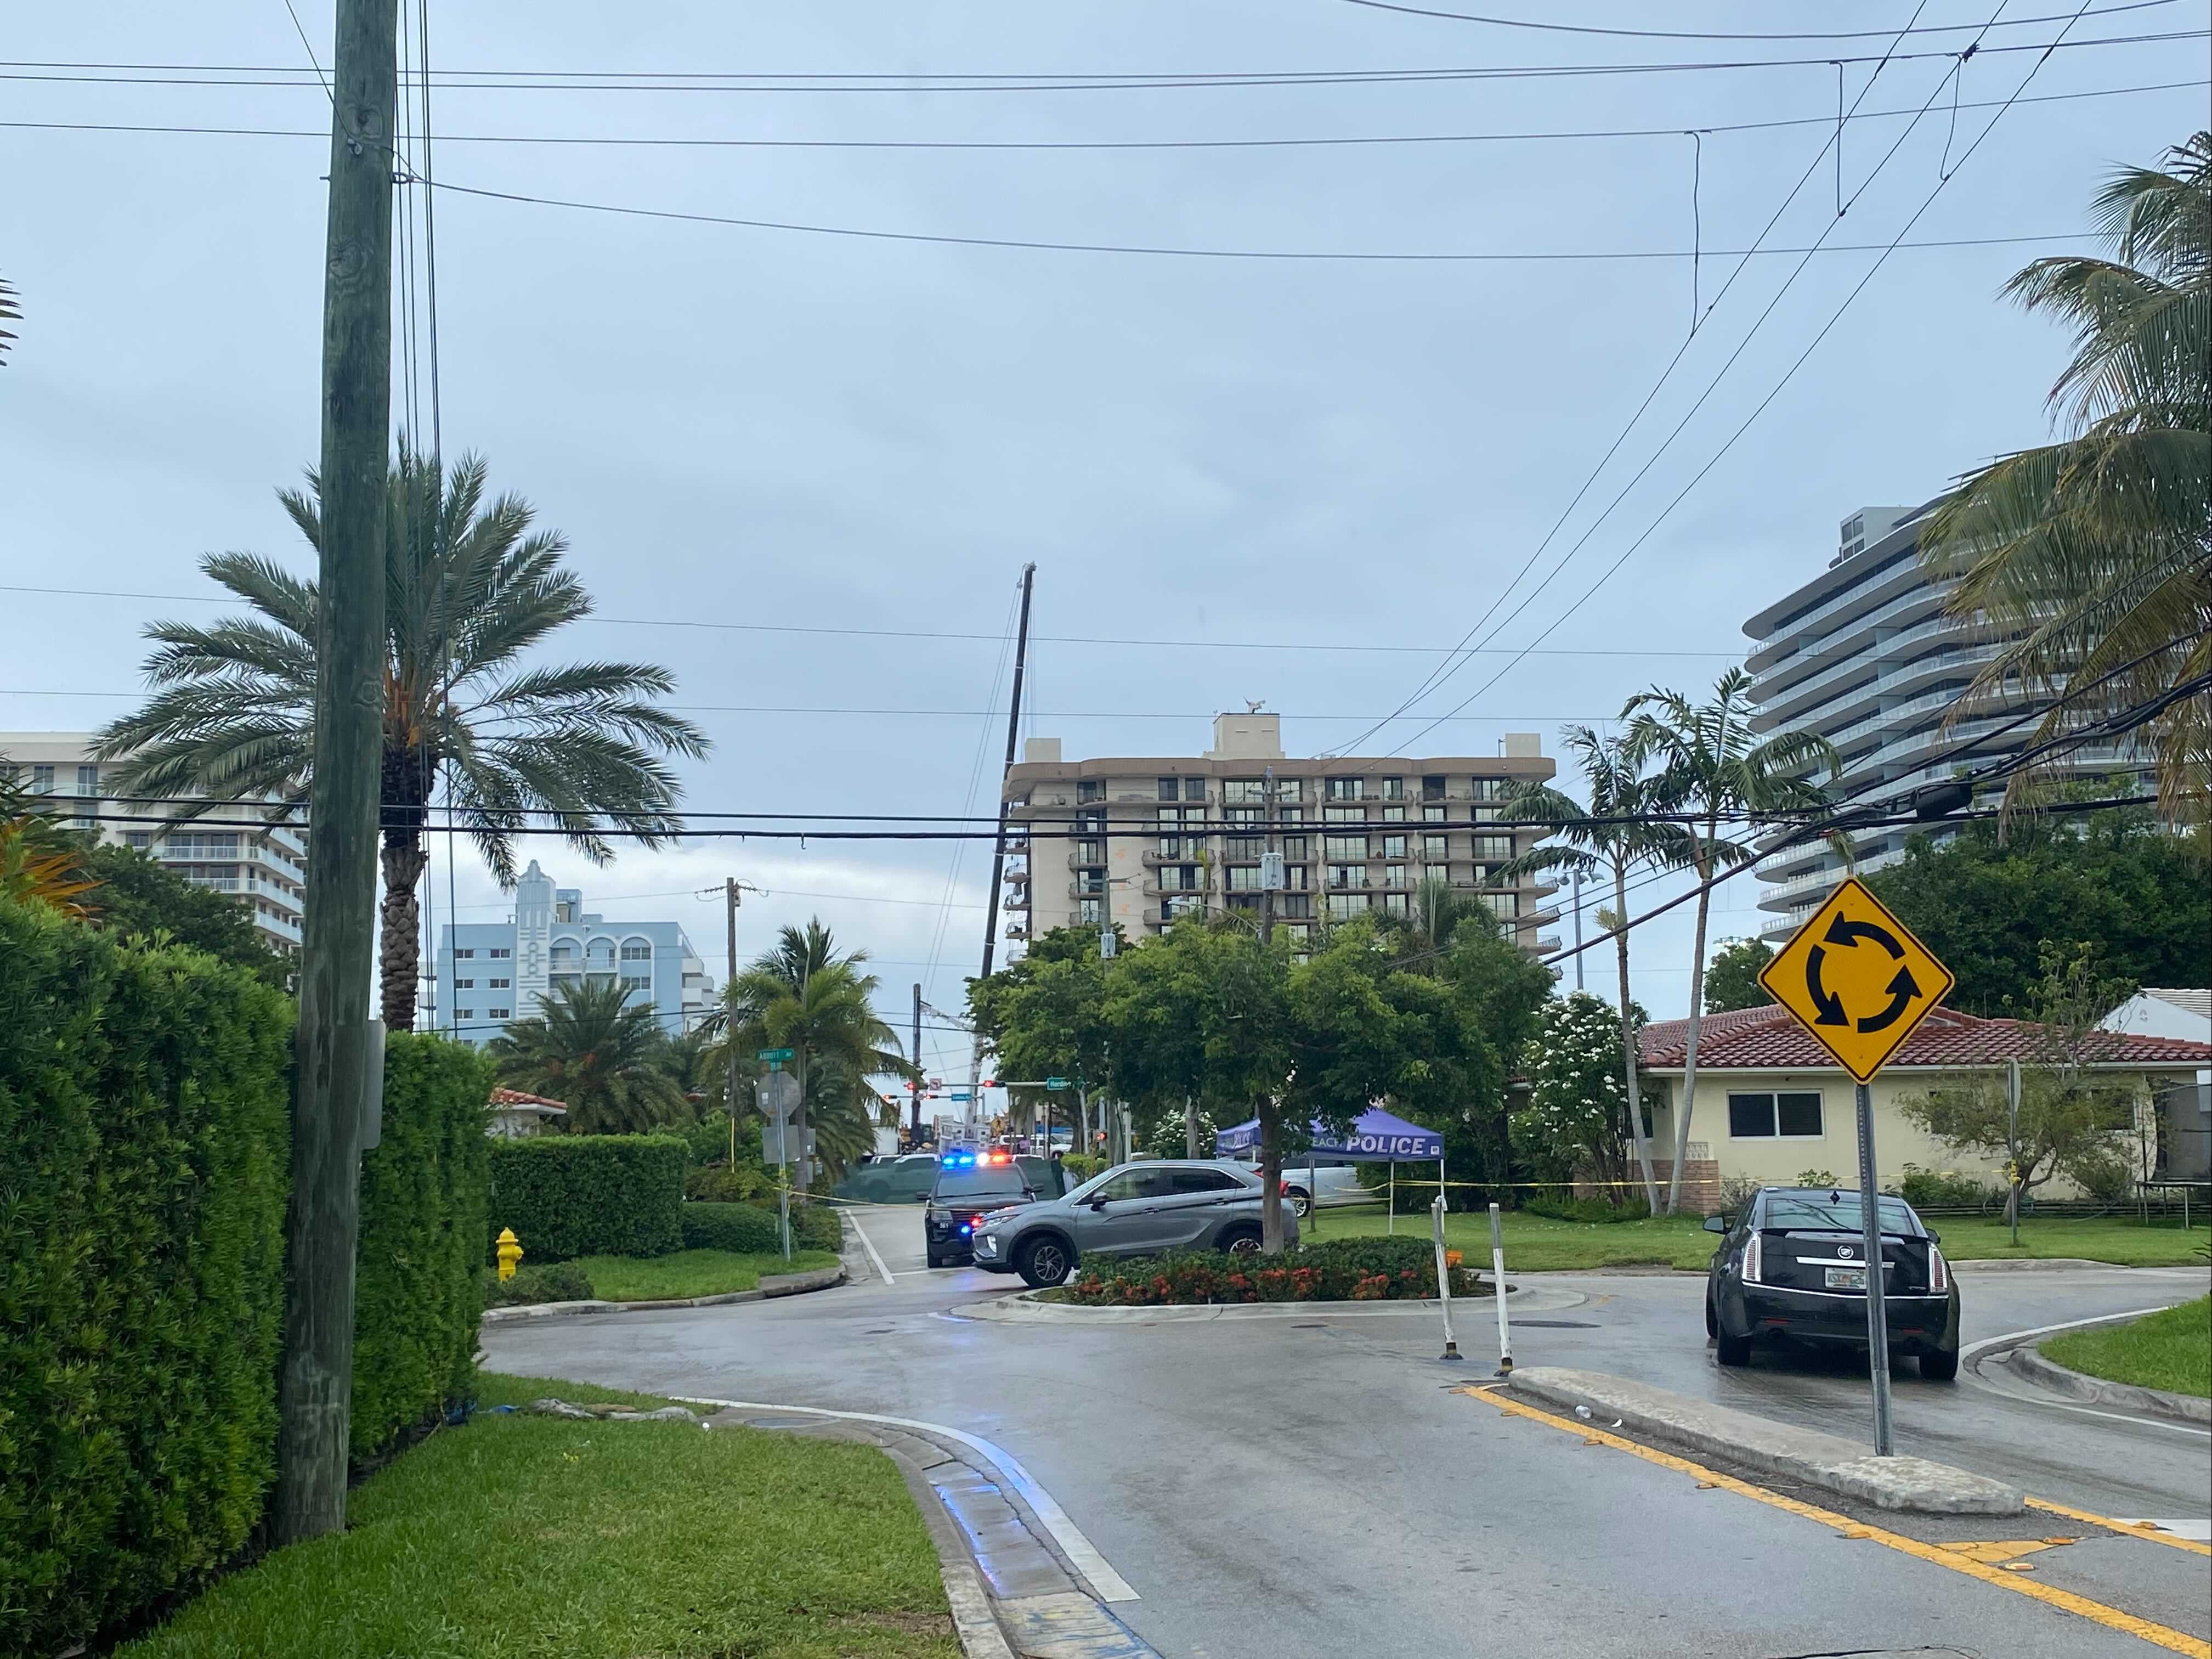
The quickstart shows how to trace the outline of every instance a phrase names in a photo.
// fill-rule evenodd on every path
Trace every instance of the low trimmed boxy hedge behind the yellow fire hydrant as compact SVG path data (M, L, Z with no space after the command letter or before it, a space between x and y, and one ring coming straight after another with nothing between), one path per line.
M500 1228L515 1230L531 1263L681 1250L684 1159L675 1135L493 1141L484 1261Z

